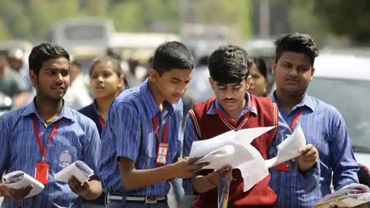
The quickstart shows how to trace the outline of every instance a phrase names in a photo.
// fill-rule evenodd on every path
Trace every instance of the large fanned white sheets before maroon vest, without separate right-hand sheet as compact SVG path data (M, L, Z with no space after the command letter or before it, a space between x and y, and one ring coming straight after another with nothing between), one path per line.
M265 160L250 143L273 128L275 127L228 131L208 140L195 141L189 157L200 158L195 164L209 162L203 169L218 170L225 165L239 169L244 180L243 191L248 191L269 175Z

